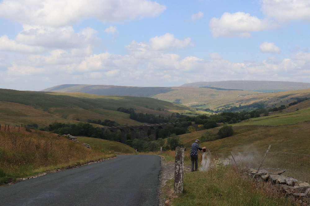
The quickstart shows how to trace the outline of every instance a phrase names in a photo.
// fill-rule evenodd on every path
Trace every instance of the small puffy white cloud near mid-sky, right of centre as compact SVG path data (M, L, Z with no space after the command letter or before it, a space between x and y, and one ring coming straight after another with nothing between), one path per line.
M166 49L182 49L186 46L193 46L191 38L179 40L173 34L166 33L163 36L155 36L150 39L151 48L153 50L166 50Z

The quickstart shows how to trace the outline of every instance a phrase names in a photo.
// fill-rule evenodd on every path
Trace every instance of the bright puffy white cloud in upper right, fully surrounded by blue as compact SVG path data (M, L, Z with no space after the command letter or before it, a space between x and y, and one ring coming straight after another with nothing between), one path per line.
M220 19L213 17L209 22L210 31L214 38L223 37L251 37L250 32L275 29L278 26L267 19L258 19L249 13L225 12Z

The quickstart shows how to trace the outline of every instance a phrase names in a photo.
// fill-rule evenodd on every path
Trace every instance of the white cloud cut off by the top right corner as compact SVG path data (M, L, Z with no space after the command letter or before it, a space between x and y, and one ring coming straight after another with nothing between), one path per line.
M263 13L280 21L310 21L309 0L263 0Z

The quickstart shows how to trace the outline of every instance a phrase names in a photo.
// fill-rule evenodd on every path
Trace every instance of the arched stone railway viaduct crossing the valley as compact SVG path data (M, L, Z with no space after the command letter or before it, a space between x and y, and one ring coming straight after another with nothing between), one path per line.
M132 126L119 126L119 127L101 127L101 130L104 132L106 130L109 130L111 132L117 132L118 130L121 131L122 134L122 143L126 143L127 136L126 133L130 130L131 131L131 140L134 140L137 138L137 130L140 129L140 139L147 137L147 130L151 129L151 137L152 140L156 139L156 129L164 129L167 125L171 125L173 127L176 127L178 124L181 124L182 122L172 122L172 123L162 123L162 124L142 124L142 125L132 125Z

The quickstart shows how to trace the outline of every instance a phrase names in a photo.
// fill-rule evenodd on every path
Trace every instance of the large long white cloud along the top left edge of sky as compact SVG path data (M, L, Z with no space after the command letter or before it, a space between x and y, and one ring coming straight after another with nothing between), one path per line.
M22 24L60 27L88 17L103 22L154 17L165 9L148 0L3 0L0 17Z

